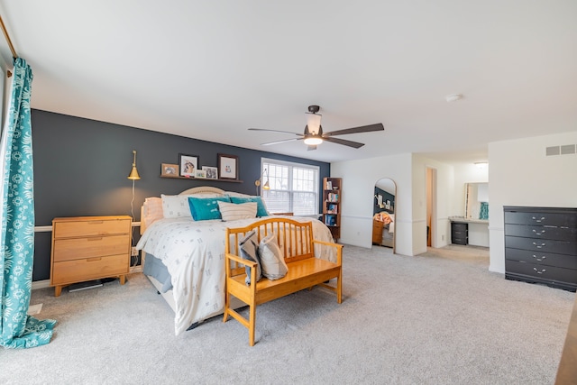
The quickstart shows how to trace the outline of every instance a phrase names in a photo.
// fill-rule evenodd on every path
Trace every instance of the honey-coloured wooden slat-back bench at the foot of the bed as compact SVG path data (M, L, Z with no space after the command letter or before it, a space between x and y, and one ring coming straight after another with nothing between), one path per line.
M253 261L244 260L238 250L239 241L244 234L255 230L258 240L268 234L276 234L280 250L289 266L289 271L280 280L268 280L262 277L257 282L256 266ZM334 247L336 262L316 258L315 245ZM233 316L249 329L249 344L254 345L256 307L276 298L287 296L302 289L312 289L320 285L336 293L336 300L342 301L342 260L343 245L316 241L313 238L311 222L301 223L289 218L268 218L241 228L226 229L225 243L226 295L224 302L224 320ZM245 266L251 267L251 284L246 285ZM336 279L336 286L326 284ZM249 318L246 319L230 307L231 296L240 299L249 306Z

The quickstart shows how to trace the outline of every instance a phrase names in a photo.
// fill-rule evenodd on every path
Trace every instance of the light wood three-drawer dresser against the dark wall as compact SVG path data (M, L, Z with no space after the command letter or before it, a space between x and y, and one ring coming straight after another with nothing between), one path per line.
M119 277L124 285L130 269L132 218L76 216L52 220L50 286L59 297L62 287Z

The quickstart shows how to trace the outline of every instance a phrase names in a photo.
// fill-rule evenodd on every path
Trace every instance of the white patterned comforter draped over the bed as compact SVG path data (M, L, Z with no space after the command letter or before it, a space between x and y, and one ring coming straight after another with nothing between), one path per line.
M333 242L329 229L311 218L315 239ZM136 248L159 258L169 270L176 303L175 334L188 326L222 313L224 309L224 236L226 227L242 227L260 220L242 219L195 222L192 218L164 218L146 229ZM316 244L316 256L336 261L334 248Z

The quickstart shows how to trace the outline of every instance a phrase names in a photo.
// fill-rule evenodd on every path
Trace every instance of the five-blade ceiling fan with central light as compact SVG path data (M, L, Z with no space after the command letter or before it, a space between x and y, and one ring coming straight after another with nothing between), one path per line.
M265 128L249 128L252 131L269 131L271 133L291 133L297 135L298 138L285 139L282 141L262 143L263 146L270 144L278 144L284 142L304 141L308 145L308 150L316 150L316 146L322 142L334 142L336 144L343 144L344 146L359 149L364 146L364 143L347 141L340 138L335 138L337 135L346 135L349 133L370 133L372 131L384 131L385 127L381 123L362 125L361 127L345 128L344 130L331 131L323 133L323 126L321 126L321 116L317 114L320 110L318 105L309 105L307 115L307 125L304 133L291 133L289 131L267 130Z

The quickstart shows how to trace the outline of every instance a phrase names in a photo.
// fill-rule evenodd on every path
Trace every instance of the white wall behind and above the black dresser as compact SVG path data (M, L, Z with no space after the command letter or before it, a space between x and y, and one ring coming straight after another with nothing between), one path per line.
M489 270L505 272L503 206L577 207L577 155L545 156L575 143L577 132L489 144Z

